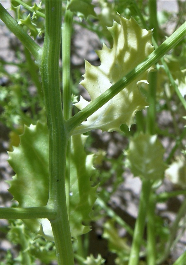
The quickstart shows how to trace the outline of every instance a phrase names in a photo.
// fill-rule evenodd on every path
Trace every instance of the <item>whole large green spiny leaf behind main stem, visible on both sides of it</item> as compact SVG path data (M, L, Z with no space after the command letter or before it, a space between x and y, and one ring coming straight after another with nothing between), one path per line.
M72 237L90 231L90 212L96 200L97 186L91 187L90 177L94 172L93 155L84 151L86 137L75 135L72 139L70 174L70 229ZM20 136L20 145L9 152L9 164L16 172L8 181L9 191L19 202L19 207L47 205L49 195L49 141L47 125L25 126ZM24 219L33 231L53 240L50 222L47 219ZM84 222L85 225L82 224Z

